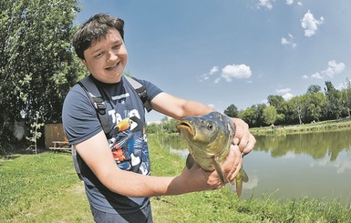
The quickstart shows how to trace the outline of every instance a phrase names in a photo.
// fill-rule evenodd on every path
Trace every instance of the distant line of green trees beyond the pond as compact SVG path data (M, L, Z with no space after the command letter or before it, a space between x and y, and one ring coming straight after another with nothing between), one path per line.
M238 111L236 106L228 106L224 114L240 117L250 127L271 125L293 125L350 117L351 82L346 79L346 87L336 89L331 81L325 81L325 88L309 86L305 95L284 100L283 96L268 96L268 103L250 106Z

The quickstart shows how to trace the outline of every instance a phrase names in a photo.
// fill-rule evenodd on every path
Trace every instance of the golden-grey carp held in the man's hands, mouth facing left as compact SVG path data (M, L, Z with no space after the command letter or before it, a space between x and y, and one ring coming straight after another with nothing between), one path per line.
M190 169L197 163L206 171L217 171L222 185L225 177L221 164L230 152L235 133L232 119L220 112L213 111L203 116L184 117L177 124L177 129L189 149L186 167ZM235 177L236 193L241 197L243 182L249 177L242 168ZM234 182L230 182L234 184Z

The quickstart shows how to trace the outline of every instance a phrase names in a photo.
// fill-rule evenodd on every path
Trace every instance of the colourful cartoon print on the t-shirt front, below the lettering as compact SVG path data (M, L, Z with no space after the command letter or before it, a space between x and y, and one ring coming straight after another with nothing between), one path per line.
M138 117L127 117L113 129L108 140L112 156L120 169L149 173L149 152L143 125Z

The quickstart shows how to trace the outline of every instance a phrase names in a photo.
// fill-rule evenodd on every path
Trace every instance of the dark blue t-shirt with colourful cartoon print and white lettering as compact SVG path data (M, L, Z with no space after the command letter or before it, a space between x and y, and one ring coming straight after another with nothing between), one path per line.
M90 76L92 77L92 76ZM92 77L93 78L93 77ZM145 134L145 109L135 89L122 76L117 84L95 82L108 102L108 123L111 134L108 145L119 168L150 175L150 158ZM139 80L146 87L149 101L161 93L160 88ZM94 92L91 92L94 95ZM62 120L71 145L83 142L102 131L98 114L84 89L73 86L68 92ZM98 148L97 148L98 149ZM127 214L149 204L149 198L129 198L110 191L96 177L85 162L77 156L88 201L93 208L108 213ZM123 179L119 179L123 184Z

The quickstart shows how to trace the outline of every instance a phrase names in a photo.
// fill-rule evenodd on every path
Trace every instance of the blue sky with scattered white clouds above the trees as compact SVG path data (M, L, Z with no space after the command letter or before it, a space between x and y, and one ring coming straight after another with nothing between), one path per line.
M351 79L350 0L82 0L125 21L125 71L223 112ZM151 112L148 121L164 115Z

